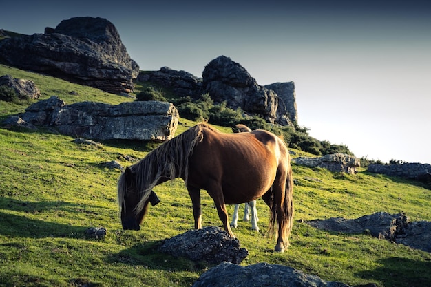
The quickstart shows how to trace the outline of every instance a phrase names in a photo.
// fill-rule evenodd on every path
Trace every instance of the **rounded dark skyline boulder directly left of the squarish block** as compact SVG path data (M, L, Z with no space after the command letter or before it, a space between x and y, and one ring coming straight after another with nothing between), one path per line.
M252 78L244 67L227 56L211 61L202 73L203 92L215 103L227 102L233 109L240 107L246 113L259 114L270 123L277 118L278 97Z

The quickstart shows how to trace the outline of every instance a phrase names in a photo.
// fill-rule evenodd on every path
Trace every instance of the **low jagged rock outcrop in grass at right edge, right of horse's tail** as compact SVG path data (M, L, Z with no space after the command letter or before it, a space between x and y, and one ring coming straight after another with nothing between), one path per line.
M410 222L403 213L377 212L354 220L335 217L327 220L311 220L307 223L327 231L368 233L379 239L431 252L431 222Z

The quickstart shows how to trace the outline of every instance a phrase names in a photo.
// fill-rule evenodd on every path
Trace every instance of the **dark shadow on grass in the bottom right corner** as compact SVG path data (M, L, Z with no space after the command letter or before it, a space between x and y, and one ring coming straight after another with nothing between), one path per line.
M364 270L357 275L364 279L383 281L385 287L431 286L431 261L390 257L379 259L377 263L381 264L381 267Z

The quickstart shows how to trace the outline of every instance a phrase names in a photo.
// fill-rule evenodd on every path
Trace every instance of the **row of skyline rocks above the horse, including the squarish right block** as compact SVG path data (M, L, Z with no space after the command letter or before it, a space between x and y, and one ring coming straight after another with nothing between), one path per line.
M215 103L226 102L228 107L262 116L270 123L293 125L298 120L293 82L258 85L244 67L227 56L209 62L202 78L162 67L159 71L140 74L138 81L155 83L172 89L178 96L195 99L209 93Z

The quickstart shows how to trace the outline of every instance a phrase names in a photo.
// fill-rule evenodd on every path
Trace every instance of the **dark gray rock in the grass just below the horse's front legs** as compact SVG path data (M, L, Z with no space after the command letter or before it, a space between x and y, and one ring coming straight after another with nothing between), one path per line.
M230 237L218 227L205 227L187 231L163 242L159 251L174 257L185 257L194 262L205 261L211 264L231 262L240 264L249 255L240 241Z

